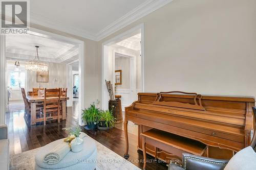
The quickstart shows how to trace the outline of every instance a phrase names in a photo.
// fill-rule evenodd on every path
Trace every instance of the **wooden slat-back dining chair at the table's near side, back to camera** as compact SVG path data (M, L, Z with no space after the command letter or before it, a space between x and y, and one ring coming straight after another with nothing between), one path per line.
M60 88L47 89L45 88L44 108L40 110L41 117L46 121L60 119Z

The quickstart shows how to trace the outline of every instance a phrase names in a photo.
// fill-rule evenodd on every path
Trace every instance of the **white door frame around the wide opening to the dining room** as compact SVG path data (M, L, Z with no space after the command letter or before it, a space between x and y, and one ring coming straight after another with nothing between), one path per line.
M66 37L66 36L63 36L63 35L59 35L59 34L55 34L55 33L51 33L51 32L47 32L47 31L43 31L43 30L38 30L38 29L35 29L35 28L30 28L30 31L29 31L30 34L34 34L34 35L39 35L39 36L43 36L43 37L48 37L48 38L52 38L54 40L59 40L59 41L66 41L68 43L71 43L71 44L74 44L74 45L78 45L78 48L79 48L79 57L78 57L78 61L79 61L79 86L80 87L83 87L80 89L80 97L79 97L79 104L78 104L78 107L79 107L79 110L81 110L82 108L84 108L84 92L86 89L85 88L85 77L84 76L81 76L81 75L85 75L84 74L84 67L86 65L85 63L85 53L84 53L84 41L81 41L79 39L75 39L75 38L71 38L71 37ZM0 91L1 93L4 92L6 94L4 94L4 96L7 95L7 91L6 91L6 56L5 56L5 50L6 50L6 45L5 45L5 42L6 42L6 38L4 35L1 35L1 56L0 56L0 61L1 61L1 64L0 64L0 70L1 70L1 75L0 75L0 80L1 82L5 82L3 84L1 84L0 86ZM4 71L4 73L3 73ZM67 75L68 76L68 75ZM6 91L6 92L5 92ZM72 96L71 96L72 97ZM3 119L3 117L5 116L5 112L6 112L6 100L4 99L1 99L0 98L0 121ZM4 113L4 115L2 115ZM82 123L82 120L81 120L81 113L79 113L79 125L82 126L83 123ZM3 122L0 122L0 123L3 123Z

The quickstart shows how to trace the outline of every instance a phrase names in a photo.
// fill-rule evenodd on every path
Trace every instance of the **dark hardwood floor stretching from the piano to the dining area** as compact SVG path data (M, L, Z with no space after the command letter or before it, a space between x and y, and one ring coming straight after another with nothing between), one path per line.
M67 120L61 123L51 123L44 125L27 125L23 119L24 110L6 112L6 123L8 125L10 139L10 154L18 154L29 151L35 148L42 147L54 140L67 137L68 133L62 128L74 126L77 123L77 111L68 109ZM105 147L114 151L120 156L123 156L125 150L124 132L121 129L113 128L111 130L85 130L89 136L103 144ZM137 151L137 136L129 134L130 140L130 158L133 164L142 168L143 155L141 151ZM158 169L166 170L167 166L164 163L156 163L153 158L148 156L148 170Z

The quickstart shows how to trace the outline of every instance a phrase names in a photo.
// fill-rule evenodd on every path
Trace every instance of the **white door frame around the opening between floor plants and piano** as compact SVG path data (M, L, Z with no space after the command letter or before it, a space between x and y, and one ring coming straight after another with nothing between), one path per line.
M144 77L145 77L145 71L144 71L144 23L141 23L135 27L133 27L130 30L127 30L113 38L111 38L110 40L107 40L105 42L103 42L101 44L101 108L103 108L103 101L104 98L109 98L109 96L105 96L104 95L104 90L106 89L106 85L105 85L105 80L104 80L104 58L105 58L105 54L104 54L104 48L105 46L110 46L113 42L115 41L120 41L122 39L125 39L124 37L127 37L129 35L131 35L132 33L136 32L137 30L140 30L141 33L141 88L142 91L144 92ZM113 78L114 79L114 78ZM112 82L114 83L114 82Z

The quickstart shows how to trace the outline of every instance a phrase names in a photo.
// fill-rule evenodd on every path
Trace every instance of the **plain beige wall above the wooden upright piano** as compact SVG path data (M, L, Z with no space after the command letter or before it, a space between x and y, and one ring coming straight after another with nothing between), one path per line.
M254 0L173 1L101 43L144 23L145 91L256 96L255 16Z

